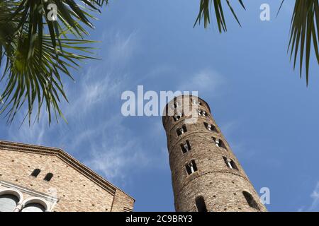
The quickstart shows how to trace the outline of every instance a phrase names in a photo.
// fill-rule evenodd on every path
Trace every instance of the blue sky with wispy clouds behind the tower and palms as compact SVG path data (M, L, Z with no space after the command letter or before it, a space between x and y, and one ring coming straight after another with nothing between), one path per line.
M263 3L271 21L259 20ZM69 123L0 119L0 138L62 148L132 195L135 211L173 211L161 117L123 117L121 93L198 90L256 190L269 187L268 210L318 211L319 68L313 58L306 88L286 53L293 1L275 18L279 4L235 7L242 28L225 11L220 35L193 28L198 1L110 1L91 32L101 60L65 81Z

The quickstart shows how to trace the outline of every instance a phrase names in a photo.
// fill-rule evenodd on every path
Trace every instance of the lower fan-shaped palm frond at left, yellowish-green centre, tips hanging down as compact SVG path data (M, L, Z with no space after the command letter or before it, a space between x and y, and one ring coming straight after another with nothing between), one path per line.
M61 98L67 100L60 74L72 78L69 69L77 69L77 61L90 58L74 52L90 53L85 46L91 41L60 39L65 49L62 52L60 47L52 47L50 35L43 36L41 48L38 47L38 37L35 37L35 49L30 59L27 58L28 42L26 33L16 43L16 52L8 57L8 69L1 78L6 79L6 88L1 94L0 114L6 112L8 123L11 124L18 110L26 103L30 124L31 116L35 112L34 107L38 106L37 119L40 119L40 109L45 102L49 123L52 121L52 114L58 121L58 116L63 117L59 107Z

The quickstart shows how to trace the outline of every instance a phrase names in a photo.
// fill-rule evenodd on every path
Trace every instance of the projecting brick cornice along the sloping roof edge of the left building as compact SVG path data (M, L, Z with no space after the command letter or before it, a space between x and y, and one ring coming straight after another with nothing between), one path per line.
M61 160L67 163L67 165L70 165L74 169L76 169L78 172L84 174L85 177L88 179L91 179L92 182L99 185L102 189L107 191L108 193L112 194L113 196L116 194L116 190L122 191L125 195L132 198L135 202L135 198L132 196L126 194L123 190L119 189L117 186L111 184L106 179L101 177L99 174L94 172L89 167L86 167L82 162L79 162L79 160L72 157L72 155L69 155L65 150L62 150L61 148L51 148L51 147L45 147L41 145L32 145L32 144L26 144L26 143L18 143L18 142L11 142L11 141L2 141L0 140L0 149L4 150L11 150L11 151L21 151L25 153L37 153L37 154L43 154L43 155L54 155L57 157L60 157Z

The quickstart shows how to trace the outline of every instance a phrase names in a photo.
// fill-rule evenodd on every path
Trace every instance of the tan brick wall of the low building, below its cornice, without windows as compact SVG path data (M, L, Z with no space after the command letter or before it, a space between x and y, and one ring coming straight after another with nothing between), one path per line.
M133 210L133 198L119 189L116 190L116 198L114 198L113 194L61 160L60 157L0 148L0 162L1 181L44 194L48 194L50 188L57 189L59 201L52 211L109 212L124 211L127 208ZM38 177L30 176L37 168L41 169ZM49 172L54 176L50 182L46 182L43 179Z

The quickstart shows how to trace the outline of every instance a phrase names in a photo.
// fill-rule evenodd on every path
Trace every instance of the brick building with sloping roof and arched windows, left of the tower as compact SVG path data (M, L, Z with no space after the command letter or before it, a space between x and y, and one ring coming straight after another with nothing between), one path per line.
M57 148L0 141L0 211L121 212L134 199Z

